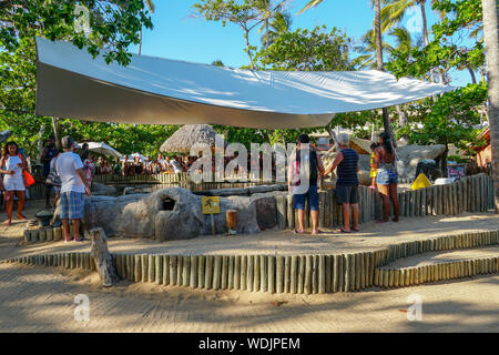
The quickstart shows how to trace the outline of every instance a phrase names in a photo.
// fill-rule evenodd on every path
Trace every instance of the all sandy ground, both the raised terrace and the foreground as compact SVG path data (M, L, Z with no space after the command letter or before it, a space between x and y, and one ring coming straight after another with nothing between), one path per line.
M32 216L41 206L31 203L26 214ZM0 223L3 219L4 214ZM60 242L22 246L23 227L21 222L11 227L0 226L0 260L89 250L90 246L90 243ZM110 241L110 250L170 254L339 253L428 235L498 227L496 215L467 214L404 219L387 225L365 224L360 233L349 235L313 236L267 231L256 235L198 237L161 244L115 239ZM462 252L466 251L450 254ZM485 247L473 253L497 252L497 247ZM442 256L445 253L435 257ZM357 293L279 295L126 281L103 288L96 273L0 264L0 332L499 332L497 274L390 291L370 288ZM74 297L79 294L88 295L90 300L88 322L74 320ZM422 321L407 320L409 295L421 297Z

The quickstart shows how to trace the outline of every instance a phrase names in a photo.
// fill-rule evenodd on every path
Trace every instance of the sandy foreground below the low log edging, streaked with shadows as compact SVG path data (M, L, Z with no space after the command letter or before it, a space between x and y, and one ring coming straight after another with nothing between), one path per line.
M499 332L499 275L326 295L201 291L121 282L95 273L0 265L0 332ZM74 297L90 301L74 320ZM409 295L422 321L408 321Z

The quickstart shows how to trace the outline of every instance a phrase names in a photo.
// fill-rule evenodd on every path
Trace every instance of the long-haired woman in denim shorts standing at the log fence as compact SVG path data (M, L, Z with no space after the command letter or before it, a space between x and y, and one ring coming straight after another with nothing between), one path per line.
M398 222L400 204L397 196L397 170L395 169L397 153L391 145L390 136L383 132L379 134L380 145L375 149L373 169L377 170L376 183L383 199L383 221L386 223L390 216L390 200L394 203L394 222Z

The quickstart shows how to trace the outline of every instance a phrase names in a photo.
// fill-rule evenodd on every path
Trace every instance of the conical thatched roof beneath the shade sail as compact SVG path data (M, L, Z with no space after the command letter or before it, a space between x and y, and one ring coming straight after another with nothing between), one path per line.
M189 153L194 144L204 143L214 146L215 135L216 132L210 124L185 124L161 144L160 151Z

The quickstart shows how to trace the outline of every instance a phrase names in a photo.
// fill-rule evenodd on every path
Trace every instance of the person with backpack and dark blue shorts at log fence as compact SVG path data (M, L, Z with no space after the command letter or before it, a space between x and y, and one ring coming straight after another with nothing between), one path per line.
M289 158L289 169L287 173L287 184L288 191L294 195L293 209L298 211L298 229L294 233L303 234L305 233L304 227L304 215L305 215L305 199L308 200L308 205L312 215L312 234L318 234L318 192L317 192L317 181L318 173L324 173L324 165L320 156L317 154L315 149L309 146L310 139L307 134L302 133L298 135L298 146L292 153ZM303 161L302 161L303 160ZM301 168L305 169L305 173L299 173ZM301 185L306 183L299 181L298 176L305 176L308 180L308 190L299 191ZM303 187L303 186L302 186ZM302 192L302 193L298 193Z

